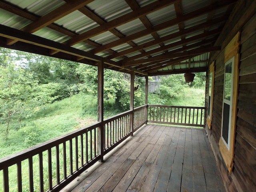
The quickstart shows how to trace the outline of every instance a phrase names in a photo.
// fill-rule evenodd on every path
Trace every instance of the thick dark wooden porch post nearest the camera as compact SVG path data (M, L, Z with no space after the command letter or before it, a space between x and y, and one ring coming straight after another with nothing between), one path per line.
M104 63L98 62L98 122L101 122L98 129L98 150L100 161L104 162L104 124L103 124L103 87L104 87Z

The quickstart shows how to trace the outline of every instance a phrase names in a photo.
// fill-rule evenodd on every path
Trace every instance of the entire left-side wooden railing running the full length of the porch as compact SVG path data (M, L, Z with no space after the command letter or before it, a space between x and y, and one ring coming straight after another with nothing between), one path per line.
M0 192L60 190L102 158L101 126L106 154L146 123L146 111L140 106L0 159Z

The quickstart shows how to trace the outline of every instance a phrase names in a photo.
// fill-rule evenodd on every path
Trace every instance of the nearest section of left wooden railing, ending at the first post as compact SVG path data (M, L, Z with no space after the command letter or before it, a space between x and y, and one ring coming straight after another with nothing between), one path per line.
M68 184L100 159L98 126L93 124L0 159L4 192L57 191ZM9 182L16 182L17 187L9 188Z

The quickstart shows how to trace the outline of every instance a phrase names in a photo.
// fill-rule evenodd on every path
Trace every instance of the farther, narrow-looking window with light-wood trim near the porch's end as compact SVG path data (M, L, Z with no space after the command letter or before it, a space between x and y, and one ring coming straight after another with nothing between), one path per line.
M213 90L214 90L214 64L215 62L212 62L209 67L209 90L208 90L208 115L206 124L209 129L212 127L212 104L213 104Z

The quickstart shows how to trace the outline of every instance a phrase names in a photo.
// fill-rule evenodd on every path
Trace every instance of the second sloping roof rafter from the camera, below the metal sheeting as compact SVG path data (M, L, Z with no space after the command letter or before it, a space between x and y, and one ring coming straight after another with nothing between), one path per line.
M68 41L65 42L65 44L68 44L70 46L77 44L79 42L82 42L88 38L91 38L93 36L96 36L102 32L105 32L107 30L110 30L112 28L115 28L117 26L120 26L124 23L130 22L134 19L137 19L141 16L144 16L146 14L149 14L151 12L154 12L156 10L159 10L165 6L168 6L170 4L175 3L178 0L162 0L162 1L156 1L153 2L152 4L149 4L147 6L144 6L142 8L139 8L133 12L130 12L128 14L125 14L119 18L116 18L110 22L106 22L105 24L102 24L96 28L93 28L92 30L89 30L87 32L84 32Z

